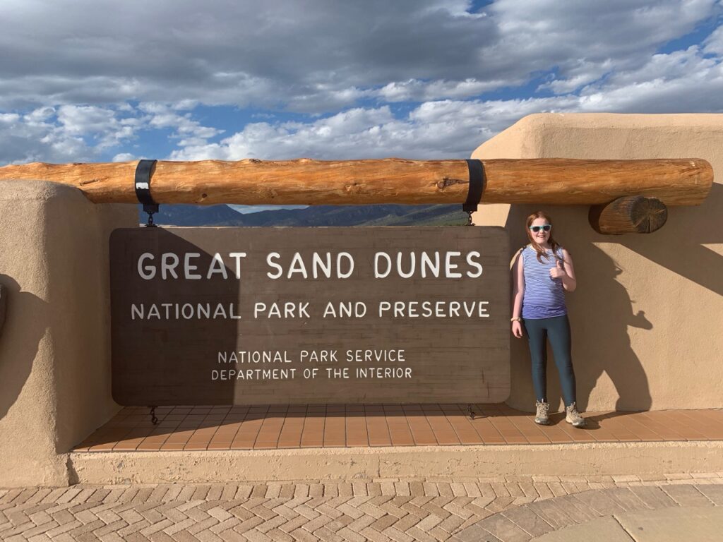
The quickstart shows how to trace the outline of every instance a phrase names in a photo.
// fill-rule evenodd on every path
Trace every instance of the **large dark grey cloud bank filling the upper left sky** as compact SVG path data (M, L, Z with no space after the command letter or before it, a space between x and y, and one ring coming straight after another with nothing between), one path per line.
M396 77L468 78L469 58L494 41L495 24L466 7L460 0L221 0L203 9L192 0L7 0L0 107L195 100L330 111L354 103L357 89Z

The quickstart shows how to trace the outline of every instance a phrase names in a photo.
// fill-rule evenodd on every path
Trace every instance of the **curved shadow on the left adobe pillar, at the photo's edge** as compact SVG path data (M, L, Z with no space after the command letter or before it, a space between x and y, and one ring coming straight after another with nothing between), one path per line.
M0 275L6 298L5 323L0 330L0 420L25 386L33 369L40 339L48 329L48 304L8 275Z

